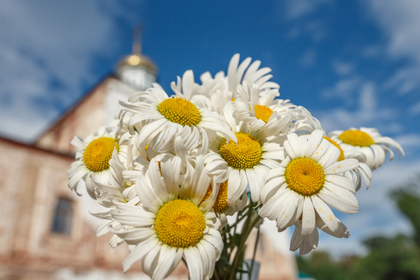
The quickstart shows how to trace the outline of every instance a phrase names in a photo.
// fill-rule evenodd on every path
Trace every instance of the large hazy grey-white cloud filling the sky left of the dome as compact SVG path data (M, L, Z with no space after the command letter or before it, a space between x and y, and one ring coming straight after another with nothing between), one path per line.
M119 47L121 16L121 8L99 0L3 2L0 133L33 140L95 83L95 59Z

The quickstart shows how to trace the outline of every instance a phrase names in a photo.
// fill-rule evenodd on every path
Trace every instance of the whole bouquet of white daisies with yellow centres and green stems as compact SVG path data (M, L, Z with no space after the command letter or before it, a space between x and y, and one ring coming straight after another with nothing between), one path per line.
M290 250L301 254L317 248L318 229L349 237L330 207L359 212L361 184L404 151L374 128L327 135L307 109L279 98L270 71L239 54L200 83L186 71L174 95L154 84L121 101L110 126L73 139L68 186L84 182L107 209L93 214L104 219L97 236L128 244L124 271L140 261L164 279L183 260L190 279L236 279L252 270L244 244L263 218L293 227Z

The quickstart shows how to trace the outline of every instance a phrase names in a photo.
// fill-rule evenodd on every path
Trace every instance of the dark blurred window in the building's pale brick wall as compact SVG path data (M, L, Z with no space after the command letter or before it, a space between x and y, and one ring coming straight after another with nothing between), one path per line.
M71 200L60 198L55 209L52 232L69 235L72 215L73 208L71 206Z

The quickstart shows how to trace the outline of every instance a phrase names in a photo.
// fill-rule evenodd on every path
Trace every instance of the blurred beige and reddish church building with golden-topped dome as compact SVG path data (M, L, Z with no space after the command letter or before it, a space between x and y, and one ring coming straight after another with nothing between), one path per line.
M88 214L95 201L69 190L66 171L74 160L73 136L85 138L107 125L119 112L119 99L145 90L156 77L157 67L134 44L115 74L100 81L34 145L0 138L0 279L148 279L140 264L122 273L126 245L112 249L109 235L96 237L98 219ZM265 233L259 242L259 279L294 279L294 257L276 250ZM181 262L168 279L187 275Z

